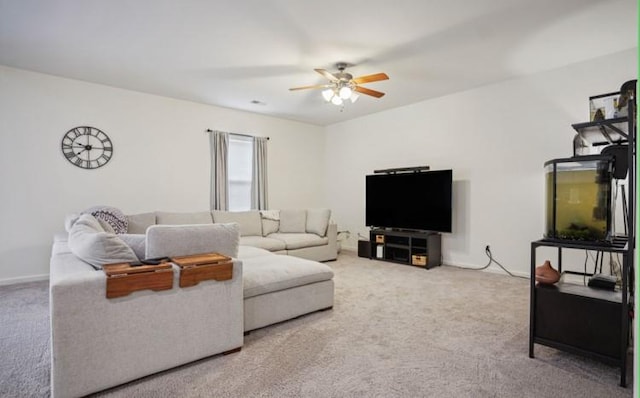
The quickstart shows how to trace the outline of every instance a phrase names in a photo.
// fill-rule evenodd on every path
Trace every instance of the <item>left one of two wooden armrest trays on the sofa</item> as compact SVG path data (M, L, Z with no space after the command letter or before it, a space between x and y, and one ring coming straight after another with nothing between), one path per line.
M173 287L173 269L167 260L157 265L131 263L106 264L107 298L127 296L138 290L169 290Z

